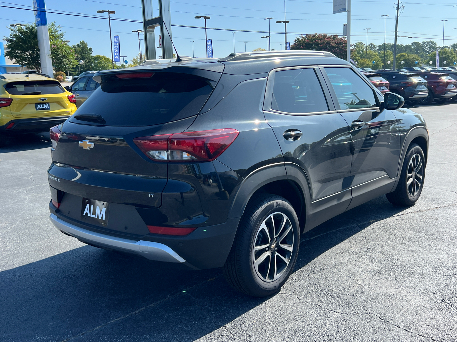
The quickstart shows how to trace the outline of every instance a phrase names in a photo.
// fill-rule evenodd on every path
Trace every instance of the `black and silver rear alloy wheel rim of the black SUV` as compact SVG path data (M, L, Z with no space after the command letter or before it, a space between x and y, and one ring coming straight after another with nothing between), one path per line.
M274 212L260 224L255 233L252 262L261 280L278 279L291 260L294 234L290 219L282 212Z

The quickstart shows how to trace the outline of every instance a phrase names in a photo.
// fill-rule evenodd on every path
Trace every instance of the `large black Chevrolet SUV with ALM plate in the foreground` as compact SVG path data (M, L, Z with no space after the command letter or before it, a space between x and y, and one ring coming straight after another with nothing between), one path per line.
M182 57L184 59L184 57ZM329 52L234 53L101 71L51 129L51 221L92 246L223 267L278 291L300 234L372 198L420 196L424 119Z

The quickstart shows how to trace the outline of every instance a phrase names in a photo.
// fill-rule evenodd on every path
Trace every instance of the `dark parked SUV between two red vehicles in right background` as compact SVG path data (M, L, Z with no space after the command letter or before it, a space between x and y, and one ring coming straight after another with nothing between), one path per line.
M389 81L389 90L402 96L410 106L416 105L421 98L428 96L427 80L417 73L403 71L377 71Z

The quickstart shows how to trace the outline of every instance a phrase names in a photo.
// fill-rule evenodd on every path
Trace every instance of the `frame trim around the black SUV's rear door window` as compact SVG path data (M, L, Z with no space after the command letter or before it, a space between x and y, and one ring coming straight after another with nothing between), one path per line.
M276 71L283 71L283 70L294 70L294 69L309 69L313 68L314 73L316 74L316 77L320 83L322 92L324 94L325 101L327 102L327 108L329 110L326 110L324 112L310 112L310 113L288 113L288 112L282 112L276 109L271 108L271 101L273 99L273 87L275 83L275 73ZM319 66L317 65L300 65L297 67L278 67L270 71L268 73L268 78L266 81L266 88L265 88L265 97L264 97L264 103L263 103L263 110L266 112L271 112L271 113L276 113L276 114L284 114L284 115L295 115L295 116L306 116L306 115L319 115L319 114L331 114L331 113L337 113L335 110L332 98L330 96L330 93L328 92L327 85L325 84L325 80L321 77L320 73L318 72ZM325 85L325 87L324 87Z

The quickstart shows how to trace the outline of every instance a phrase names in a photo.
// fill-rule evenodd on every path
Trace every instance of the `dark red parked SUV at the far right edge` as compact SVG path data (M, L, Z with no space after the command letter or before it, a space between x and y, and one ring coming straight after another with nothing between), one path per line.
M457 81L450 77L448 73L438 71L414 71L420 74L427 81L428 96L421 98L421 104L444 103L447 99L457 95Z

